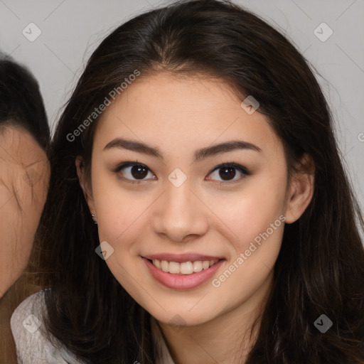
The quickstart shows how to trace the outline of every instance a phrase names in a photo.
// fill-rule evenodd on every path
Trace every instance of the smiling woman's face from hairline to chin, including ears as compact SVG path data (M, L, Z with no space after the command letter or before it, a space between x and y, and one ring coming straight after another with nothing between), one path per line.
M299 218L311 198L309 180L287 186L282 142L241 102L223 81L139 78L97 124L92 190L76 162L106 264L164 323L257 306L284 220ZM126 162L142 166L117 170Z

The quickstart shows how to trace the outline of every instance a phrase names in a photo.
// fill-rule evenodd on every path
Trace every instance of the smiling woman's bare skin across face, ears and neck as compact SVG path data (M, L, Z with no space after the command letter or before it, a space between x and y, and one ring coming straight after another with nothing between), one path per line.
M151 277L141 256L194 252L225 257L216 278L280 215L286 223L296 221L313 194L311 173L297 174L287 186L282 142L259 109L248 114L240 102L222 80L168 73L139 78L97 124L91 185L76 159L100 242L114 249L106 264L157 319L176 363L238 363L234 353L240 344L245 355L254 335L250 341L244 334L269 293L284 223L218 288L211 280L195 289L166 288ZM158 147L164 159L126 149L102 151L115 137ZM262 151L237 149L193 163L197 149L237 139ZM149 168L142 183L118 178L135 181L131 167L112 171L125 161ZM252 174L235 170L230 179L239 181L224 183L213 169L228 162ZM175 168L187 176L178 188L168 180Z

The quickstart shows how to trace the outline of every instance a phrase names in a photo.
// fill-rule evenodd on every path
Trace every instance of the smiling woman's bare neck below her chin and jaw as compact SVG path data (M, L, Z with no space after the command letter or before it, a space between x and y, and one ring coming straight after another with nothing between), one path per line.
M197 326L183 326L176 331L168 323L158 321L174 362L245 363L257 339L261 314L272 287L272 278L273 272L249 299L208 322Z

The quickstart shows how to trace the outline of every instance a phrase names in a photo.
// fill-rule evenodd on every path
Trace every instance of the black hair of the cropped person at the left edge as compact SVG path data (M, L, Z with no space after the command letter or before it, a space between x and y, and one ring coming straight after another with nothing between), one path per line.
M48 151L50 129L39 85L10 57L0 58L0 127L21 127Z

